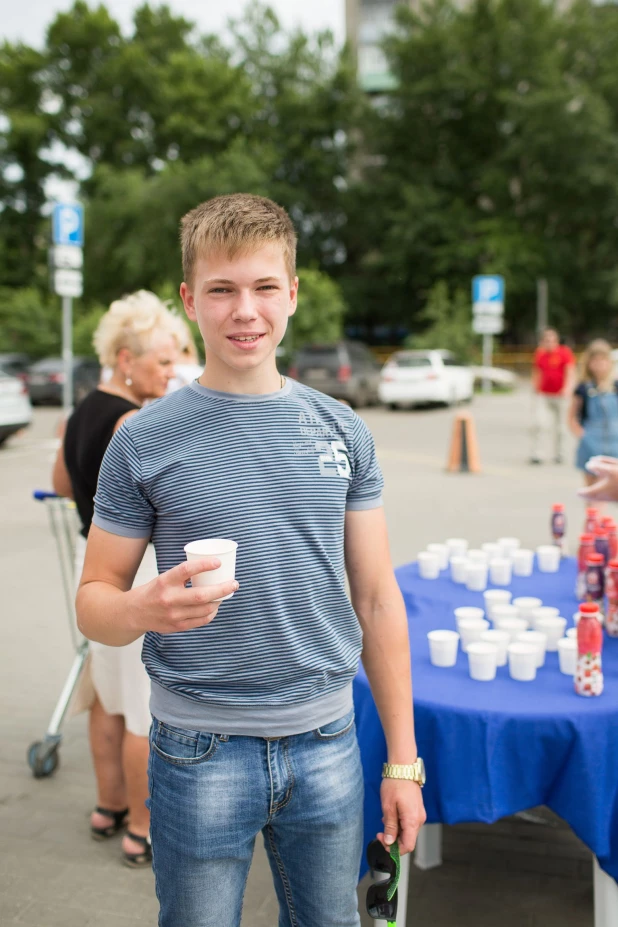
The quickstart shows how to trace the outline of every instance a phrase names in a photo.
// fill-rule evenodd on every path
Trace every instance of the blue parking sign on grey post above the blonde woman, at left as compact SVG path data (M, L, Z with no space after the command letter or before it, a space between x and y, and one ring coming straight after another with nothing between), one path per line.
M83 291L84 208L78 203L57 203L52 212L51 268L54 293L62 297L62 407L73 406L73 299Z

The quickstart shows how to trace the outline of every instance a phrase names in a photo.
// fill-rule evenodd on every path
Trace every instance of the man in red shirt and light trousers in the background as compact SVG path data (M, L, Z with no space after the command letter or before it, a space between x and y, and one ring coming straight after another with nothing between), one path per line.
M575 385L575 357L560 344L555 328L546 328L534 354L532 389L535 393L530 463L542 462L541 441L547 418L554 436L554 460L563 461L565 403Z

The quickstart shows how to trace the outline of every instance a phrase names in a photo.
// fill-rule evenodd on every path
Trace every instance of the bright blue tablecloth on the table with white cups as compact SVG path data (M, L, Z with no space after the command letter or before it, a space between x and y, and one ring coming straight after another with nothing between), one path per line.
M618 879L618 640L605 637L605 692L582 698L547 654L534 682L516 682L508 667L493 682L475 682L467 657L439 669L429 662L427 632L455 628L453 609L483 605L448 574L422 580L416 564L397 570L412 648L414 717L427 767L424 791L431 824L492 823L547 805L573 828ZM575 561L557 574L515 578L513 596L535 595L573 624ZM386 745L361 667L354 682L356 723L365 774L365 842L381 829L379 789ZM364 874L364 870L361 875Z

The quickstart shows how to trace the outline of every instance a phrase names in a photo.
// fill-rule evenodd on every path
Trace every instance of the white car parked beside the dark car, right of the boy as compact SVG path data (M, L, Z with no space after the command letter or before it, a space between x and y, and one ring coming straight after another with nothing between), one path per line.
M382 368L380 401L401 406L466 402L474 395L474 373L450 351L396 351Z

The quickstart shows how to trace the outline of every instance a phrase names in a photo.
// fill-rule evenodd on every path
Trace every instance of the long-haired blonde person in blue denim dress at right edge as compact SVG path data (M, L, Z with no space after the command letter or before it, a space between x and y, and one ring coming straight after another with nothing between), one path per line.
M601 338L592 341L581 367L582 380L573 392L569 427L579 438L575 465L589 485L596 480L585 469L591 457L618 457L618 382L611 345Z

